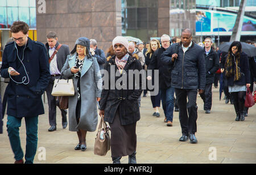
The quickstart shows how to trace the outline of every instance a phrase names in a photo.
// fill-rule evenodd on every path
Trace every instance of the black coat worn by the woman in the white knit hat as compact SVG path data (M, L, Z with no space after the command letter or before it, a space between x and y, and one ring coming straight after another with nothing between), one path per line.
M115 76L114 82L110 82L110 77L113 76L110 72L113 70L113 72L119 72L115 65L115 56L106 62L104 69L108 71L109 74L109 76L104 75L102 77L104 86L101 93L100 109L105 110L104 121L113 123L115 112L119 106L121 125L130 125L137 122L141 118L138 98L142 93L142 77L145 77L144 74L140 75L141 78L138 82L139 89L135 89L135 76L132 74L134 70L142 70L141 62L139 62L137 58L129 56L122 74ZM118 79L121 78L121 76L126 76L127 82L119 82ZM132 82L129 82L129 80L131 80L130 77L133 77ZM108 86L106 86L106 83L109 83ZM127 83L127 89L125 89L125 83ZM129 89L128 87L130 83L133 83L133 87ZM121 84L123 87L120 89L117 88L118 84ZM112 86L114 86L114 88L110 89Z

